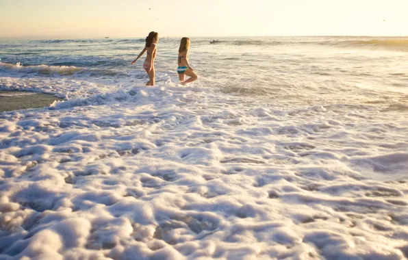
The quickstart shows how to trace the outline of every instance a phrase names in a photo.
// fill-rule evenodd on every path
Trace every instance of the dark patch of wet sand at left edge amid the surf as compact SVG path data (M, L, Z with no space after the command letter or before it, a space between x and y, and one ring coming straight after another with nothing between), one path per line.
M28 91L0 90L0 112L18 109L48 107L60 99L53 94Z

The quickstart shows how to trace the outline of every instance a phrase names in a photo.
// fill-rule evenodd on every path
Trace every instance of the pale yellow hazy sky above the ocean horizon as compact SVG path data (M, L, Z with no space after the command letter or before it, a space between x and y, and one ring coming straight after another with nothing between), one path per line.
M408 36L407 10L408 0L0 0L0 38Z

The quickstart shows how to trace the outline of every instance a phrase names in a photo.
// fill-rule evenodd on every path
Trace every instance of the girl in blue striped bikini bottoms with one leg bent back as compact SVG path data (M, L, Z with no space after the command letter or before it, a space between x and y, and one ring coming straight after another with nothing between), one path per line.
M183 37L181 38L180 48L179 48L179 57L177 59L177 64L179 67L177 68L177 73L179 74L179 81L181 85L186 85L199 77L194 73L194 70L188 64L188 49L190 48L190 39ZM186 81L184 81L185 75L190 77Z

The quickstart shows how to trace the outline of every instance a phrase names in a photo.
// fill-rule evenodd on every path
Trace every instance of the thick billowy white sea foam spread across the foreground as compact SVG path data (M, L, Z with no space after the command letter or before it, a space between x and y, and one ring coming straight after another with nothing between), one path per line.
M385 123L392 112L368 122L361 107L247 109L171 82L89 86L2 114L1 257L403 258L407 187L387 167L407 169L408 125Z

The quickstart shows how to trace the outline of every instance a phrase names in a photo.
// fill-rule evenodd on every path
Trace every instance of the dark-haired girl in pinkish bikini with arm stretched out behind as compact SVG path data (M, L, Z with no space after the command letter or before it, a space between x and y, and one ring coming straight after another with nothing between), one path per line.
M131 64L133 65L144 52L147 52L146 60L143 63L143 68L146 70L147 75L149 76L149 81L146 83L146 86L155 86L155 57L156 57L156 43L159 41L159 34L155 31L151 31L149 36L146 37L146 46L142 52L138 55L136 60L133 60Z

